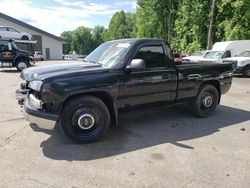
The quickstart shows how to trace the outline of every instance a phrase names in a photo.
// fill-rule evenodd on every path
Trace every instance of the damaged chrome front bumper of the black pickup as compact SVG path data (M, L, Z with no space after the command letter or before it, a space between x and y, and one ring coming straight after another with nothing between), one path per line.
M36 109L33 105L37 101L34 101L34 97L31 96L32 95L28 95L28 92L25 93L21 89L16 91L18 104L22 106L22 112L24 114L25 119L28 122L37 124L39 127L42 128L54 128L59 116L57 114L49 113L44 109Z

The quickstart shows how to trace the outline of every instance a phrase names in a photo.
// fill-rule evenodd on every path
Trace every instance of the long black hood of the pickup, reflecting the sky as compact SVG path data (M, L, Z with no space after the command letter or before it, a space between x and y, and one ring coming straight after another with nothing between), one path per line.
M91 72L108 71L99 64L78 62L69 64L56 64L42 67L32 67L24 69L21 73L21 78L26 81L44 80L46 78L76 73L91 73Z

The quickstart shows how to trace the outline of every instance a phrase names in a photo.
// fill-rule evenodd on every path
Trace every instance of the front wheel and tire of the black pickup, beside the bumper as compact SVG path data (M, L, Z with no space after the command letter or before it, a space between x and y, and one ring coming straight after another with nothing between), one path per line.
M96 97L82 96L68 101L62 109L60 129L77 143L90 143L100 139L108 130L110 113Z

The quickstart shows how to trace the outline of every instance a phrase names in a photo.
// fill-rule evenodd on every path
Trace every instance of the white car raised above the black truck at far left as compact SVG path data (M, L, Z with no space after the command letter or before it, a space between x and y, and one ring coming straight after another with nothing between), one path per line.
M0 26L0 38L32 40L32 35L29 33L19 31L12 27Z

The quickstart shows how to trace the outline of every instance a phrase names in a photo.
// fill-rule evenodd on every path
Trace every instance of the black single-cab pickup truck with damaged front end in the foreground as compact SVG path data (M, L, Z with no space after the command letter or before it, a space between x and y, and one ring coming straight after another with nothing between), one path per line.
M66 136L87 143L117 125L122 108L189 103L208 117L232 75L232 64L175 65L163 40L123 39L103 43L80 63L23 70L17 98L29 122L58 122Z

